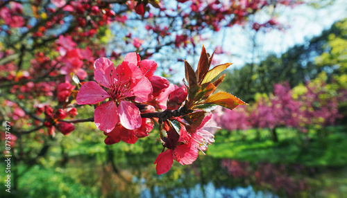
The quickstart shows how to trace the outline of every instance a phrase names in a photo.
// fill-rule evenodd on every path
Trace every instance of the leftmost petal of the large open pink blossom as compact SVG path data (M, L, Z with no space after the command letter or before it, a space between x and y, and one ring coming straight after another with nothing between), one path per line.
M99 84L90 81L82 85L76 96L78 105L91 105L102 102L106 98L110 98L107 91L103 90Z

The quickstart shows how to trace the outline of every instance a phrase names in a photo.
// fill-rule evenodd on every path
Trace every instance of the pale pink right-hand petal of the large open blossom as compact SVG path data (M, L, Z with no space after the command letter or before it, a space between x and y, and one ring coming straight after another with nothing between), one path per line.
M152 84L149 80L142 76L142 78L132 87L133 93L135 94L136 102L147 102L149 100L149 96L152 93Z

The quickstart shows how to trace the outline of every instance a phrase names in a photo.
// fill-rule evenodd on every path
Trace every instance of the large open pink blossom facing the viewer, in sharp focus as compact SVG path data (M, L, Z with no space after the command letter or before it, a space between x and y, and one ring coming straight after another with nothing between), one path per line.
M76 101L78 105L90 105L110 98L94 111L94 122L98 129L110 133L117 123L130 130L141 126L140 112L133 102L149 100L152 87L151 82L137 67L137 62L136 53L128 53L116 69L105 57L95 61L94 76L100 85L86 82L78 92Z

